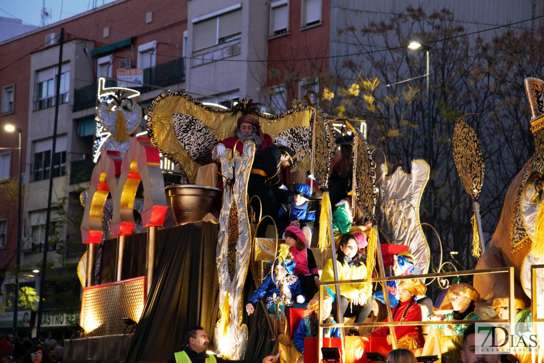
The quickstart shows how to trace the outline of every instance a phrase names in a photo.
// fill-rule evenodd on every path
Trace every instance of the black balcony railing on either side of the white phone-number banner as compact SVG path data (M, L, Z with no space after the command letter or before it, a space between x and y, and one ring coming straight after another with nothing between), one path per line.
M176 83L185 82L185 59L175 59L154 67L144 69L144 83L159 87L165 87ZM106 87L115 87L117 81L106 80ZM142 86L138 88L140 93L156 90L156 87ZM74 91L73 111L81 111L96 105L97 85L91 84Z

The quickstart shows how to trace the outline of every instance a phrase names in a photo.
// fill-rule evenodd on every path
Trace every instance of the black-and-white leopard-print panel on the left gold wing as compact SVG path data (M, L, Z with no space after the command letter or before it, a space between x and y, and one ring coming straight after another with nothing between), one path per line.
M177 140L191 159L200 165L209 164L212 161L212 149L217 143L211 130L191 115L174 112L172 118Z

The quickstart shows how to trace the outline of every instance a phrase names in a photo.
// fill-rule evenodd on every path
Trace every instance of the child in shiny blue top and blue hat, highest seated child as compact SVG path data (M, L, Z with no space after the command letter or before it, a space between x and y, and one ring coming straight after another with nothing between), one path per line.
M277 213L279 235L283 235L288 226L299 227L306 236L306 247L310 247L312 227L316 221L316 210L308 203L312 197L310 186L297 184L294 193L293 203L281 204Z

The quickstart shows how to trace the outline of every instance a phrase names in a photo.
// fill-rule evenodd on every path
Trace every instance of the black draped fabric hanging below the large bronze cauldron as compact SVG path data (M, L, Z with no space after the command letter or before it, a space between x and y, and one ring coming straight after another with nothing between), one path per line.
M157 246L153 286L127 362L167 361L183 349L186 330L196 325L201 325L213 341L219 312L215 264L218 231L219 226L209 222L157 231L157 242L163 246ZM127 244L130 242L127 240Z

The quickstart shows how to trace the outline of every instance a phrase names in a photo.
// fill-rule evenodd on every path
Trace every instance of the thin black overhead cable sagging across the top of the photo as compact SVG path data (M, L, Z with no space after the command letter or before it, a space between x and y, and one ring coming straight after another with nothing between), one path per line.
M457 38L463 37L463 36L468 36L468 35L473 35L473 34L479 34L479 33L485 33L485 32L489 32L490 30L497 30L497 29L500 29L500 28L510 27L510 26L513 26L513 25L516 25L516 24L521 24L521 23L524 23L524 22L533 21L533 20L536 20L536 19L539 19L539 18L542 18L542 17L544 17L544 15L535 16L535 17L532 17L532 18L529 18L529 19L526 19L526 20L521 20L521 21L517 21L517 22L514 22L514 23L508 23L508 24L500 25L500 26L493 27L493 28L488 28L488 29L483 29L483 30L477 30L477 31L471 32L471 33L466 33L466 34L459 34L459 35L449 36L449 37L442 38L442 39L437 39L437 40L430 40L430 41L425 42L425 43L423 43L423 44L437 43L437 42L442 42L442 41L446 41L446 40L457 39ZM97 41L97 40L85 39L84 37L81 37L81 36L78 36L78 35L75 35L75 34L69 34L69 35L74 36L74 37L77 37L77 38L79 38L79 39L88 40L88 41L94 41L94 42L96 42L96 43L100 43L100 44L103 44L103 45L108 45L108 44L106 44L106 43L103 43L103 42L100 42L100 41ZM135 37L138 37L138 36L141 36L141 35L135 35ZM246 60L246 59L208 59L208 58L194 58L194 57L176 57L175 55L166 55L166 54L156 54L156 55L159 55L160 57L167 57L167 58L174 58L174 59L185 58L185 59L196 59L196 60L202 60L202 61L224 61L224 62L248 62L248 63L250 63L250 62L303 61L303 60L317 60L317 59L331 59L331 58L342 58L342 57L354 57L354 56L356 56L356 55L366 55L366 54L372 54L372 53L378 53L378 52L395 51L395 50L398 50L398 49L406 49L406 46L391 47L391 48L384 48L384 49L375 49L374 51L349 53L349 54L343 54L343 55L327 55L327 56L324 56L324 57L293 58L293 59L265 59L265 60ZM137 51L137 50L134 50L134 49L128 49L128 50L131 51L131 52L137 52L137 53L138 53L138 51Z

